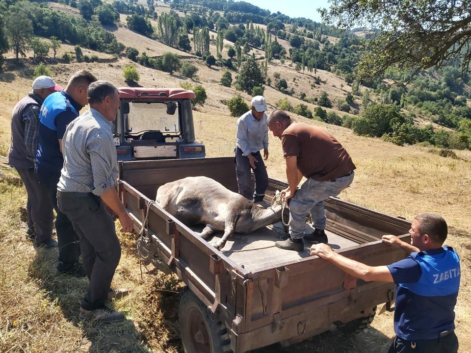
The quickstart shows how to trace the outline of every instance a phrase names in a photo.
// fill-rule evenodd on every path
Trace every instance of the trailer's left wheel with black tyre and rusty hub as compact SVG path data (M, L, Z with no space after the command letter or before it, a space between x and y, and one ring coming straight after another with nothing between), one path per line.
M179 322L185 353L232 353L226 325L188 287L182 293Z

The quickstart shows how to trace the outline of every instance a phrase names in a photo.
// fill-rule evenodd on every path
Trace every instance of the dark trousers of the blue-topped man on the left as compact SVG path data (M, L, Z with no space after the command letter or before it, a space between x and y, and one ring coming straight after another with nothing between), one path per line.
M41 166L37 166L36 173L39 182L42 183L48 191L49 199L51 200L48 207L53 207L57 214L55 218L57 247L59 248L57 271L67 272L72 270L78 263L79 238L69 218L57 207L57 183L59 182L60 171L53 172L51 170L44 170Z

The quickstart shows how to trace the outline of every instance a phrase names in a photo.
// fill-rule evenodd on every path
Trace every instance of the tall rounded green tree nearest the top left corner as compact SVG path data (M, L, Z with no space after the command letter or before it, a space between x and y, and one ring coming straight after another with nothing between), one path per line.
M13 49L18 60L19 54L26 56L25 50L28 47L28 40L33 33L33 24L26 14L20 8L8 11L5 17L5 34L10 41L10 47Z

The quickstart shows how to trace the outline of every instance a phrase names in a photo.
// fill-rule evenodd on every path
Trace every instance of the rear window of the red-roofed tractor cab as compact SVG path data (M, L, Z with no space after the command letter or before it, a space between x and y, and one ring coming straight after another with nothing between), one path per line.
M169 104L165 102L129 102L129 113L127 114L129 133L136 135L144 131L160 131L168 135L180 134L178 105L178 102Z

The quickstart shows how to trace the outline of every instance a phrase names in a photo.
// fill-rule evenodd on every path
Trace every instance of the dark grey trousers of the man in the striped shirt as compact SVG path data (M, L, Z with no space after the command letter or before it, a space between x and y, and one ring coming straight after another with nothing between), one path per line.
M90 280L81 303L85 310L105 306L111 280L121 257L114 222L103 201L90 194L86 197L58 198L59 209L71 220L80 237L83 267Z

